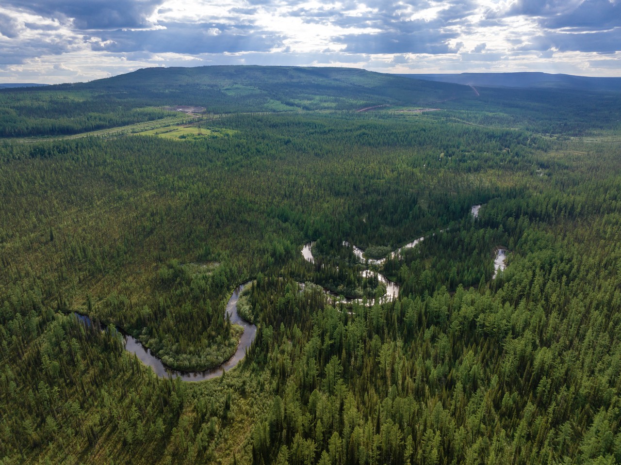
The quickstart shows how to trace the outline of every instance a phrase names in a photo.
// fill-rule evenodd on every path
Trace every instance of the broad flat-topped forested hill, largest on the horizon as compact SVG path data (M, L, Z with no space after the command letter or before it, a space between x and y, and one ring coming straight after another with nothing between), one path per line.
M110 92L117 98L200 105L211 112L425 105L472 92L458 84L411 81L354 68L297 66L144 68L76 87Z

